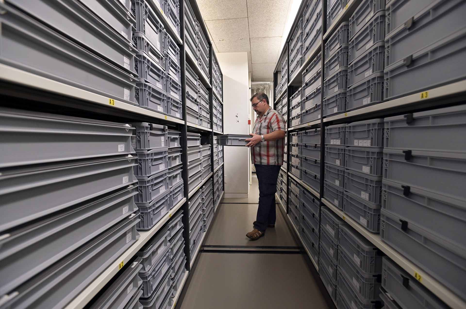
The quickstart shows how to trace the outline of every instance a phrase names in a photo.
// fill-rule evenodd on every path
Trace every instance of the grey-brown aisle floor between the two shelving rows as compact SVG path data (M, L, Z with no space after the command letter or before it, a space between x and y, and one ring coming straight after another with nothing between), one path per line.
M242 200L258 200L256 188L253 184L249 197ZM275 229L267 229L257 241L249 241L245 234L252 230L257 207L220 204L205 245L297 246L279 205ZM318 288L316 280L320 279L315 279L302 254L202 252L190 276L181 299L182 309L330 308Z

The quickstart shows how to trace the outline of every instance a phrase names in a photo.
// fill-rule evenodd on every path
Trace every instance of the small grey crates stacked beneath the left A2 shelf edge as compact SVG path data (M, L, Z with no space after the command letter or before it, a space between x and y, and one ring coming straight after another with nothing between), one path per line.
M139 277L142 289L139 302L143 308L167 308L185 274L183 212L158 231L139 252Z

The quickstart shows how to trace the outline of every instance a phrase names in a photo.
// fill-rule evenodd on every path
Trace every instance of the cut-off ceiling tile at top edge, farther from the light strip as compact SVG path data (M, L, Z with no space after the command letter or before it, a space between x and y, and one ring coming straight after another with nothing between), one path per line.
M197 0L204 20L246 18L246 0Z

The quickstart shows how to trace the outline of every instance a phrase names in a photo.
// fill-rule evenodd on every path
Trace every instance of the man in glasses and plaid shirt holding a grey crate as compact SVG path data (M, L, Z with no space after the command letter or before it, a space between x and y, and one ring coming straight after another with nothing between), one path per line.
M246 234L251 240L264 236L267 227L275 227L275 192L277 178L283 165L285 149L285 119L268 104L267 94L258 92L250 99L257 118L251 138L246 145L251 148L251 159L259 182L259 208L254 230Z

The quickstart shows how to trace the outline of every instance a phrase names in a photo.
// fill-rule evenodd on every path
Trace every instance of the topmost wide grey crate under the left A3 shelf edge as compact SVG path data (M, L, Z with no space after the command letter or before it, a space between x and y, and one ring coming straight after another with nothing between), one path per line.
M130 125L9 108L0 123L0 167L134 153Z

